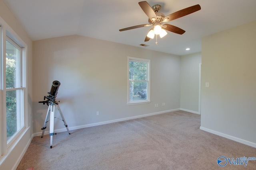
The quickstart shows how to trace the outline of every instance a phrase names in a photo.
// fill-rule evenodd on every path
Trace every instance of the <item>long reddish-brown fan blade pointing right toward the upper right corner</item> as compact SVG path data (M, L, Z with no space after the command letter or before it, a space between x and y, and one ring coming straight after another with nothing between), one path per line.
M180 18L180 17L183 17L183 16L186 16L188 14L191 14L193 12L196 12L198 10L201 10L201 6L200 5L194 5L194 6L190 6L188 8L185 8L183 10L180 10L180 11L177 11L177 12L174 12L166 17L164 17L164 22L168 22L168 21L172 21L172 20L175 20L177 18Z

